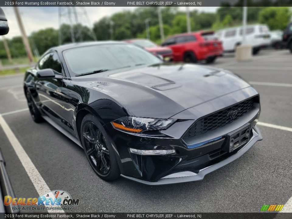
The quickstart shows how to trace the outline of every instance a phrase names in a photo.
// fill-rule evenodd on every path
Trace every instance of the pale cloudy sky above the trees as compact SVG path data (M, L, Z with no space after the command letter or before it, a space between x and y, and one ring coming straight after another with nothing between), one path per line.
M82 7L89 16L90 23L93 24L104 16L110 16L116 12L131 10L136 7ZM185 11L186 7L179 7L179 10ZM190 10L205 12L215 12L218 7L189 7ZM19 26L12 7L2 7L6 18L8 19L9 33L5 36L11 39L14 36L20 36ZM26 34L45 29L48 27L58 28L58 7L18 7L22 17ZM90 24L88 24L90 25Z

